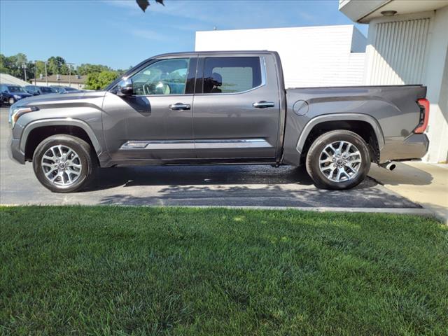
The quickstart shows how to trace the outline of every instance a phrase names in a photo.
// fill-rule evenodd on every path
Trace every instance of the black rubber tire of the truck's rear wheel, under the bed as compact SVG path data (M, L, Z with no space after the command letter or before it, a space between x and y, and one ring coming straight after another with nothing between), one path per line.
M351 179L347 179L345 177L345 181L332 181L328 176L325 176L320 169L319 160L321 158L321 153L324 148L330 144L333 144L337 141L346 141L358 149L360 153L361 162L357 166L358 172L353 174ZM325 155L323 156L325 158ZM328 157L329 158L329 157ZM325 165L328 165L326 163ZM330 165L335 165L332 162ZM328 166L327 166L328 167ZM334 166L335 167L335 166ZM337 169L337 168L336 168ZM346 130L335 130L330 131L325 134L322 134L316 140L314 140L313 144L309 148L307 153L307 172L311 179L314 181L314 184L317 188L322 189L335 189L335 190L343 190L353 188L361 183L370 169L370 151L365 143L364 139L361 138L358 134L346 131ZM332 173L331 173L332 174ZM337 173L335 173L337 174Z

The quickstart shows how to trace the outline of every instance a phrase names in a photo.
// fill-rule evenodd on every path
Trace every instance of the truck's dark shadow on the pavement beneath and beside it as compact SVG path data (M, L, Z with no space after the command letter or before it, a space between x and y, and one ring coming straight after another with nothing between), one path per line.
M304 168L172 166L101 169L90 190L118 188L99 204L417 208L371 178L351 190L320 190ZM145 195L139 186L153 186Z

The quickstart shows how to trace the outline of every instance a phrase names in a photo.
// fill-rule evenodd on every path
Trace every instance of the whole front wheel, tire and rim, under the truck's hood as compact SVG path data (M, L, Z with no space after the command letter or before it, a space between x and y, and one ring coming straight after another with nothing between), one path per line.
M33 155L33 169L45 188L55 193L80 190L94 176L97 161L83 139L58 134L39 144Z

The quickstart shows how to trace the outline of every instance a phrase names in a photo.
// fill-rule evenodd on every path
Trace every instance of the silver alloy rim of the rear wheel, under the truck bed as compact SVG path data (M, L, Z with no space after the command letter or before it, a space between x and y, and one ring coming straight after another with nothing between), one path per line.
M330 181L344 182L358 175L361 153L348 141L335 141L325 146L319 155L319 169Z

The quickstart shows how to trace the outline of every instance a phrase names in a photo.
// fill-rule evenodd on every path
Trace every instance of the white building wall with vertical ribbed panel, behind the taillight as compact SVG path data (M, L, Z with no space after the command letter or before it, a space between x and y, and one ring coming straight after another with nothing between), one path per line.
M370 21L365 56L366 85L428 87L430 140L426 162L448 156L448 6L435 11Z

